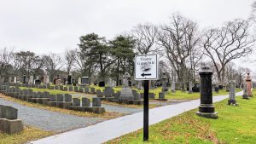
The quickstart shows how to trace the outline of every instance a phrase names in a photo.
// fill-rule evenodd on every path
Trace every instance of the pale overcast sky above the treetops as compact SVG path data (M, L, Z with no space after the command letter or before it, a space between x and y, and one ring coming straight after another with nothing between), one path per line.
M174 12L201 28L247 19L253 0L0 0L0 48L62 53L90 32L111 39Z

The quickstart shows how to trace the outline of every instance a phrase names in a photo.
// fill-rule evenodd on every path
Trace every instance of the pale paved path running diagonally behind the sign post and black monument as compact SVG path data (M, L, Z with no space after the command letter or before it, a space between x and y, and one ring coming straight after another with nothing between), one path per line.
M242 92L236 93L242 95ZM213 102L223 101L228 95L213 96ZM172 118L192 110L200 105L200 100L187 101L176 105L156 107L149 110L149 124L159 123L167 118ZM218 110L217 110L218 112ZM96 125L91 125L78 130L71 130L60 135L31 141L30 144L98 144L121 135L143 128L143 112L137 112L125 117L111 119Z

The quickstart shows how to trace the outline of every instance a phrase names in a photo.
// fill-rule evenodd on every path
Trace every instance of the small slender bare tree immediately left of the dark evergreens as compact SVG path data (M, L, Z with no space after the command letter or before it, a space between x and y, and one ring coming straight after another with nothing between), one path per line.
M66 49L65 51L66 68L68 74L70 73L75 62L75 57L77 55L76 53L76 49Z

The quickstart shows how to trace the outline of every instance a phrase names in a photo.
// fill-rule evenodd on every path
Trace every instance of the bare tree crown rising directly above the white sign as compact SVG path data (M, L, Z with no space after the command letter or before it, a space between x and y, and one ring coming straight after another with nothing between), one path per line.
M139 54L147 55L153 51L153 46L156 40L157 27L148 24L139 24L132 31L132 37L136 39L136 49Z

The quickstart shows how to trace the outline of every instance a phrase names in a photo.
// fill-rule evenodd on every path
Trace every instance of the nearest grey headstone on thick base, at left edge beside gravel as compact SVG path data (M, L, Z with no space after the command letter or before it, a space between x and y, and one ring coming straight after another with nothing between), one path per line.
M15 134L23 130L23 124L18 119L18 110L14 107L0 105L0 131Z

